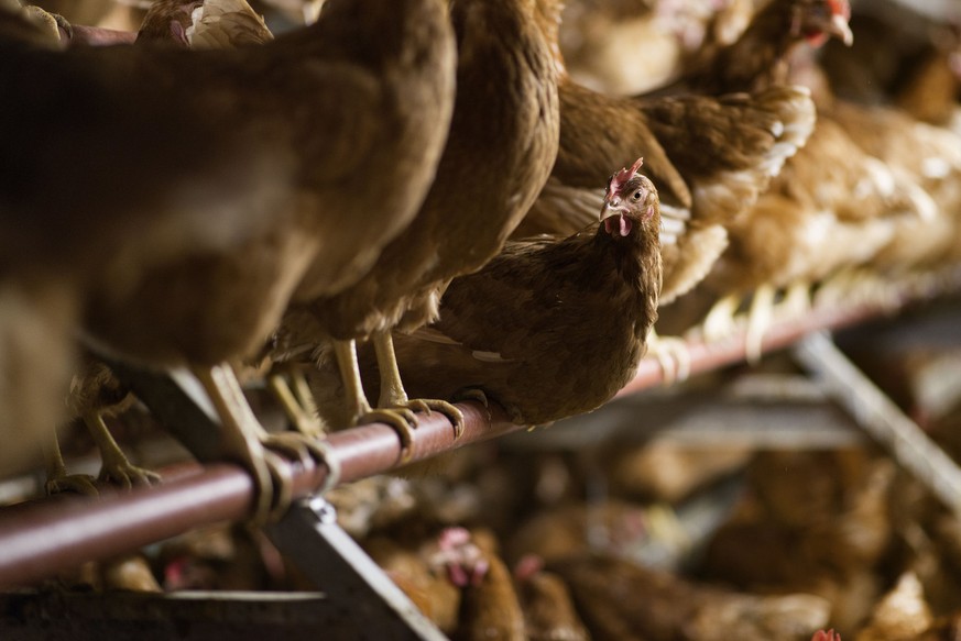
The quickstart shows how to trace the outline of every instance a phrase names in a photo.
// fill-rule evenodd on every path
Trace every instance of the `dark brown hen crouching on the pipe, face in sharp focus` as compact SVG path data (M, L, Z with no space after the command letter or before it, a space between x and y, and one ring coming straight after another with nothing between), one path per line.
M518 424L590 411L616 394L644 354L660 289L657 190L640 165L611 177L600 223L507 243L450 284L437 322L395 334L408 387L482 395ZM313 382L320 397L336 394L325 378Z

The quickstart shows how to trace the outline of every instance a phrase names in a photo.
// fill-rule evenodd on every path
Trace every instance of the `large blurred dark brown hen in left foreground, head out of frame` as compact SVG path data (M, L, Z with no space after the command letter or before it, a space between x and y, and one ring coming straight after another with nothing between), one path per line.
M66 265L91 344L189 365L263 508L260 428L221 364L258 349L292 297L357 280L416 212L452 107L444 8L332 1L237 51L3 49L19 99L0 110L21 123L2 134L4 267Z

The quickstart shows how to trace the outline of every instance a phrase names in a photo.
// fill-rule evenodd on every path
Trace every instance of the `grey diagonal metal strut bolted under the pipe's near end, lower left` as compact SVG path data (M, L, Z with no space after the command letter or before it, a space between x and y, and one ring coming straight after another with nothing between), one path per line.
M356 622L358 639L447 639L337 524L334 507L323 497L295 501L265 531L343 619Z

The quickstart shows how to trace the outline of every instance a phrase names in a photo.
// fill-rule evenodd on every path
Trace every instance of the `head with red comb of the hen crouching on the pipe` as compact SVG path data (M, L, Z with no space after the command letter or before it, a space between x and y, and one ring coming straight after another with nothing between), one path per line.
M630 169L614 173L608 180L601 220L612 236L626 236L637 225L659 224L657 189L647 176L637 170L644 158L637 158Z

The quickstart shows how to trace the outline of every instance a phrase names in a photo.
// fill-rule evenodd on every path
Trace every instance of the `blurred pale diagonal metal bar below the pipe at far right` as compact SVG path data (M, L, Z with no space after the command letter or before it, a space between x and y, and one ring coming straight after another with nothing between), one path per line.
M961 515L961 468L838 350L826 332L798 343L794 356L900 466Z

